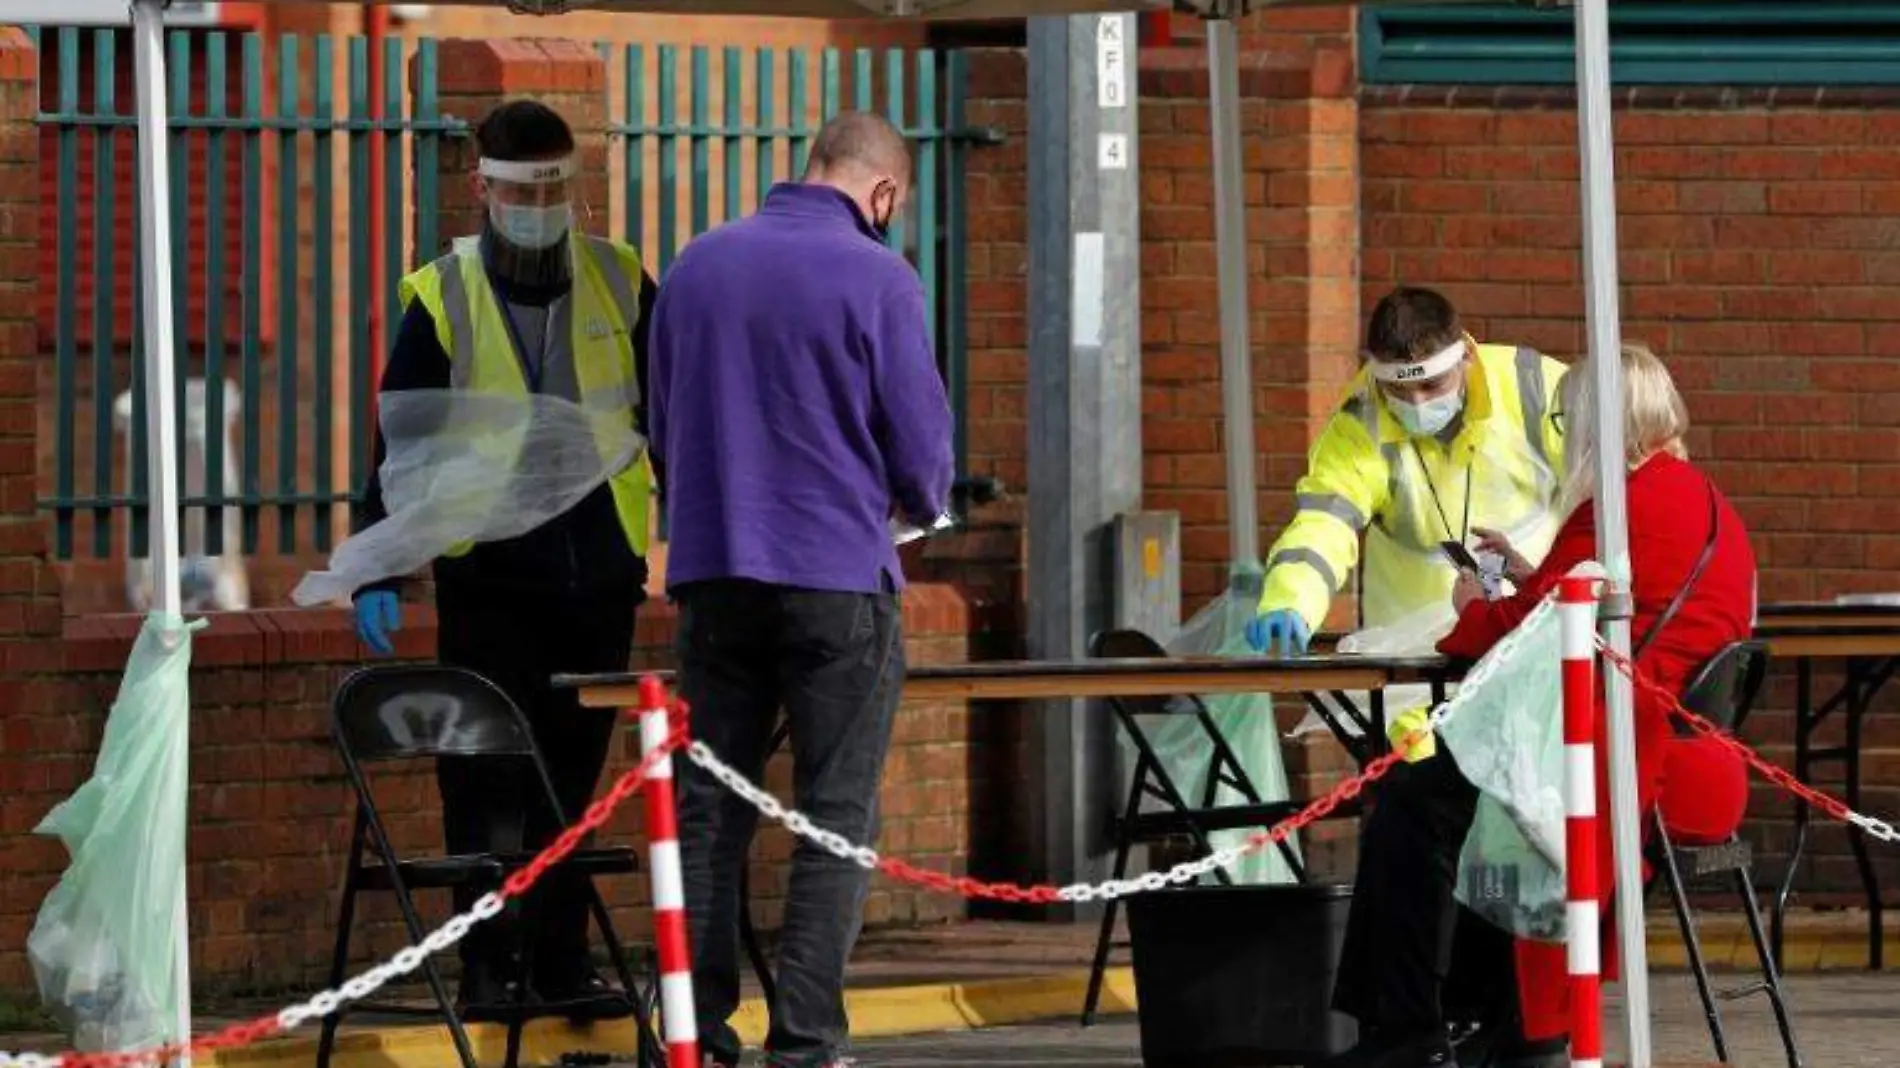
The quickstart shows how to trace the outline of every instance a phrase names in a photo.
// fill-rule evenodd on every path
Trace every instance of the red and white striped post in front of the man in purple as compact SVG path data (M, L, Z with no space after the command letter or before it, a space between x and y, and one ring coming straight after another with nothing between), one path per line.
M640 678L640 753L650 754L673 734L667 688ZM667 1068L699 1066L694 1020L694 958L686 944L686 882L680 878L680 817L673 808L673 754L646 773L646 855L654 886L654 946L659 950L659 1019L667 1039Z

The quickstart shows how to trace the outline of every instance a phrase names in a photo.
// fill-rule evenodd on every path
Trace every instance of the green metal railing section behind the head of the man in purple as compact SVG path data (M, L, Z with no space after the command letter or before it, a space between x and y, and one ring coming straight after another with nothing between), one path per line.
M880 112L904 133L916 160L916 181L910 207L891 226L887 243L902 251L923 279L937 361L956 409L961 473L969 382L963 175L973 148L1001 139L965 122L967 57L960 51L878 53L868 48L792 49L783 55L703 46L631 44L616 49L600 44L598 49L616 72L619 97L608 125L612 165L621 186L619 232L646 253L656 277L694 234L750 213L775 181L796 179L806 167L811 139L840 110ZM718 122L712 120L714 110ZM718 167L712 165L714 146ZM682 156L686 181L680 175Z

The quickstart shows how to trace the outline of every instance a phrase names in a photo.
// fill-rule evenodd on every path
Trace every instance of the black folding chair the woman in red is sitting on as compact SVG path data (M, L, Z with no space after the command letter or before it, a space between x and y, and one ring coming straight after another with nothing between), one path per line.
M1691 713L1733 734L1754 705L1767 677L1769 648L1763 642L1733 642L1718 652L1683 692L1682 703ZM1678 735L1689 735L1689 728L1676 724ZM1668 887L1670 903L1676 906L1676 924L1682 927L1682 941L1689 954L1689 969L1695 973L1695 988L1702 998L1702 1013L1708 1017L1708 1036L1716 1045L1716 1058L1729 1064L1729 1036L1721 1024L1721 1001L1765 994L1775 1009L1775 1026L1780 1030L1782 1049L1788 1051L1788 1066L1803 1068L1801 1049L1794 1038L1794 1024L1788 1019L1788 1000L1782 994L1780 971L1775 967L1775 954L1761 931L1761 908L1756 901L1752 880L1754 851L1740 834L1731 834L1727 842L1716 844L1678 844L1670 840L1662 823L1662 813L1649 813L1651 865ZM1725 878L1740 897L1742 918L1748 922L1748 937L1756 943L1756 958L1761 962L1761 979L1733 990L1716 990L1708 963L1702 958L1702 943L1697 937L1695 910L1689 905L1687 884L1699 880Z

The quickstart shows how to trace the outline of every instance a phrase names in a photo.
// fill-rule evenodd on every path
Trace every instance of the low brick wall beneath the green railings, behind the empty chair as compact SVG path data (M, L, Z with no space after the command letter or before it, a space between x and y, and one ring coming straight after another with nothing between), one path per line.
M213 616L198 635L192 669L192 963L200 990L268 990L325 975L336 891L350 844L352 791L329 734L329 699L361 652L340 612L243 612ZM671 665L674 616L665 604L640 610L636 665ZM25 944L34 914L65 868L57 840L32 827L89 773L106 711L118 690L137 620L76 621L44 642L32 671L0 680L8 709L0 760L0 996L30 996ZM960 663L967 616L956 593L918 585L904 597L912 663ZM433 648L433 618L412 612L405 654ZM8 644L8 661L17 644ZM899 713L884 791L884 848L939 870L963 874L969 849L971 720L952 701L906 703ZM631 732L616 745L606 777L636 762ZM606 781L606 779L604 779ZM790 760L766 775L790 796ZM428 766L372 779L391 836L403 851L439 851L435 777ZM638 806L614 817L606 844L640 844ZM790 840L764 829L752 851L754 916L777 927ZM646 933L644 876L602 882L621 931ZM380 895L378 895L380 897ZM365 899L359 956L407 944L388 901ZM446 899L426 914L446 916ZM961 916L960 903L878 882L864 910L870 924Z

